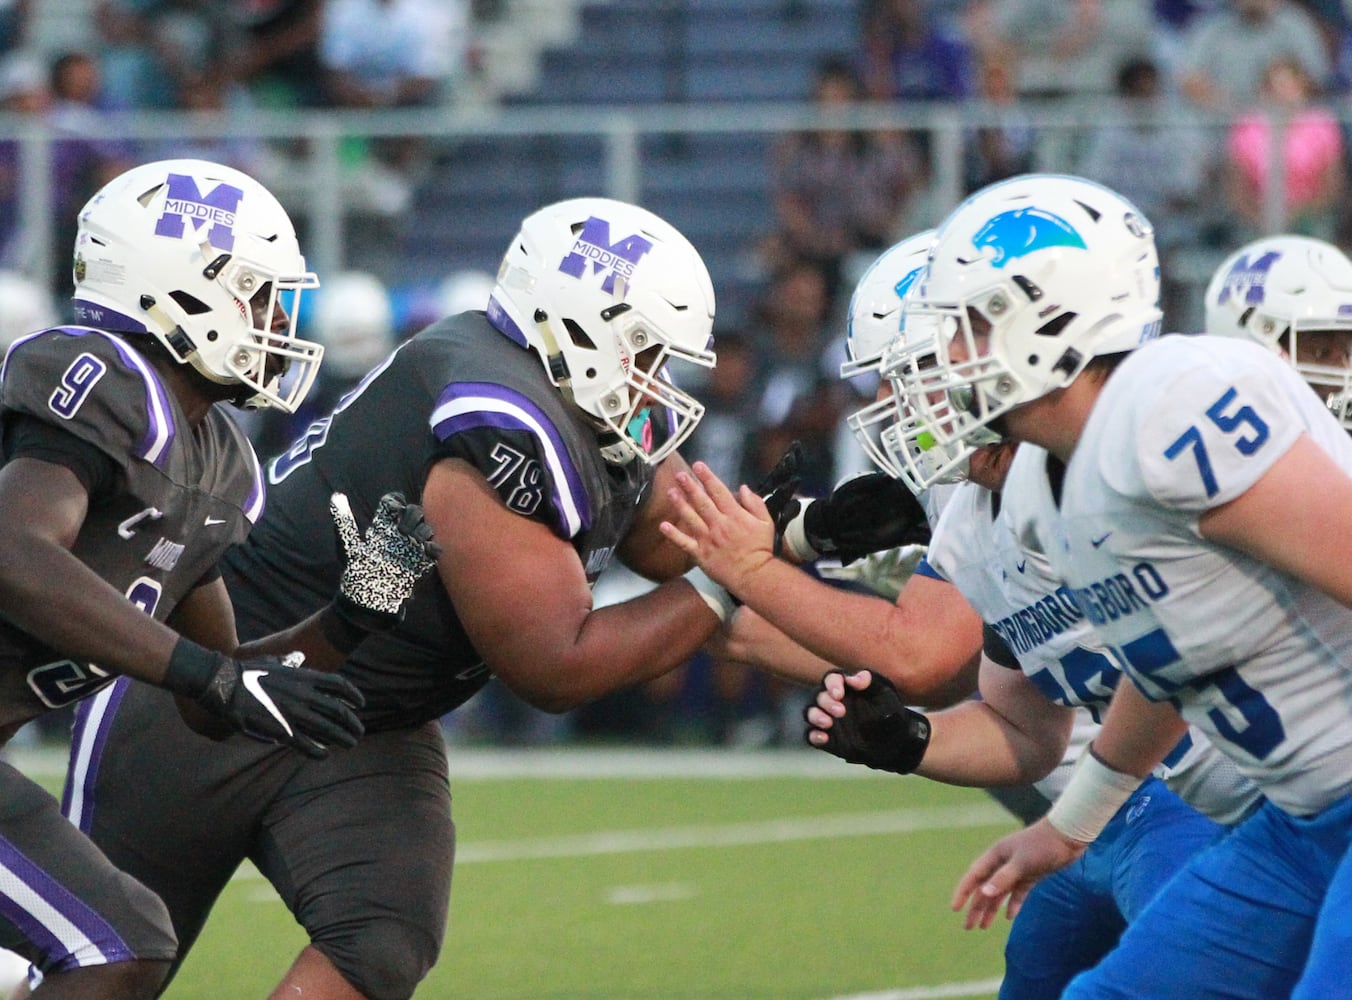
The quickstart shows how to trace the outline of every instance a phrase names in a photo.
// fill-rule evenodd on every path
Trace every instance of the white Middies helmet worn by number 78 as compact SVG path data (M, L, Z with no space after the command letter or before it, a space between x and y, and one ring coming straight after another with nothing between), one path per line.
M667 364L714 365L714 285L690 241L645 208L581 197L530 215L503 257L488 319L533 347L598 423L610 462L656 465L704 415ZM665 439L653 432L657 407Z

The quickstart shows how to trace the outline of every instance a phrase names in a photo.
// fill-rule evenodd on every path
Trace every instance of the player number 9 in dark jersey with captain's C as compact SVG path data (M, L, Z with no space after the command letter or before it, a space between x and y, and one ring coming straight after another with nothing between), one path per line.
M360 692L279 657L334 661L395 624L397 586L376 595L370 581L430 554L416 507L388 500L383 523L353 539L339 497L352 561L338 597L247 646L218 569L262 512L264 482L216 404L293 407L320 358L283 305L316 284L285 211L215 164L132 168L82 209L74 281L80 324L20 338L0 370L0 741L122 691L123 674L165 695L157 707L177 724L176 699L197 728L246 732L284 757L352 746ZM183 731L208 757L218 746ZM157 995L177 953L165 905L4 764L0 872L0 946L34 962L39 996Z

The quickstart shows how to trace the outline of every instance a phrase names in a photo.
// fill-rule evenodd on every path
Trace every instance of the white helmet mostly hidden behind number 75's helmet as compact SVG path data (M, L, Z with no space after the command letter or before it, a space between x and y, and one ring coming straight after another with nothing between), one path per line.
M902 309L929 257L934 230L903 239L868 266L850 296L849 318L845 327L845 353L841 378L857 378L869 372L880 372L883 355L898 338L907 342L919 339L923 328L933 341L933 324L918 322L915 331L907 331ZM933 346L930 347L933 350ZM898 416L895 393L875 399L846 416L845 423L860 447L876 465L887 472L890 458L879 443L879 431ZM895 474L895 473L894 473Z

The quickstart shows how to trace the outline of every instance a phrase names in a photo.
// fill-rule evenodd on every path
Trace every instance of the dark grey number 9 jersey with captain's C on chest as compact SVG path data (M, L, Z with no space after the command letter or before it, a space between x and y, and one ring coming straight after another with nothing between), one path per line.
M112 459L116 485L91 499L73 551L160 620L262 514L262 470L235 422L212 407L191 427L154 368L116 335L59 327L16 342L0 369L0 419L18 414ZM0 697L9 719L76 701L108 680L0 609Z

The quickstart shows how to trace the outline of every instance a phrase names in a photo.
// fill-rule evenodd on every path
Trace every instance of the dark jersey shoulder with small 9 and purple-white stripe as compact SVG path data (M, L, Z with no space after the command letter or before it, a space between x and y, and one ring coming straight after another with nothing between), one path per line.
M0 369L0 408L65 428L119 465L164 466L178 409L146 358L120 336L57 327L16 341Z

